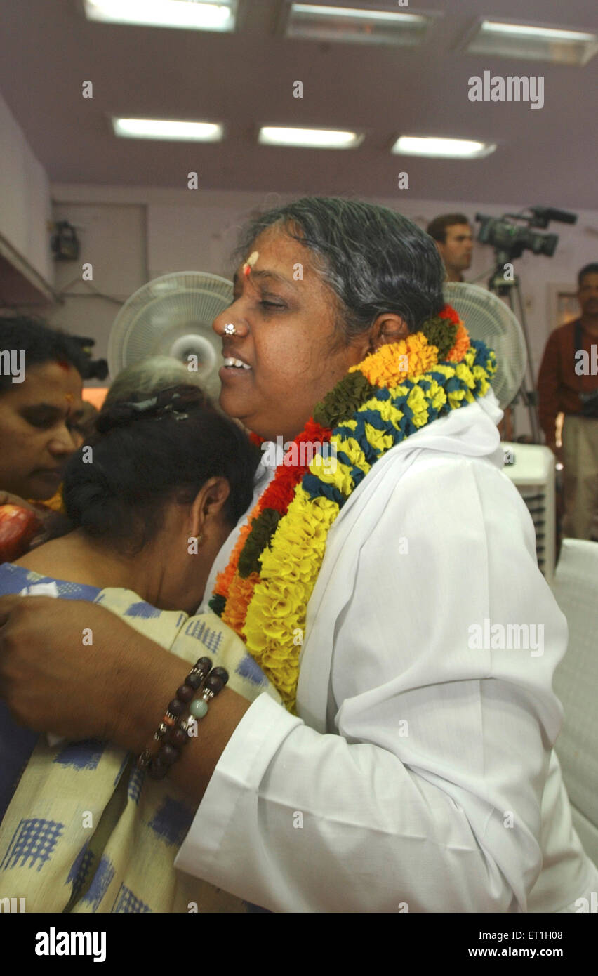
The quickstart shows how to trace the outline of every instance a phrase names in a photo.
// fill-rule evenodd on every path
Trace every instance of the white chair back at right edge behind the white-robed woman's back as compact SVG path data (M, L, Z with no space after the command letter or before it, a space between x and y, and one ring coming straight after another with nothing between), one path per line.
M552 591L569 625L569 647L554 674L565 711L556 752L574 827L598 864L598 543L563 540Z

